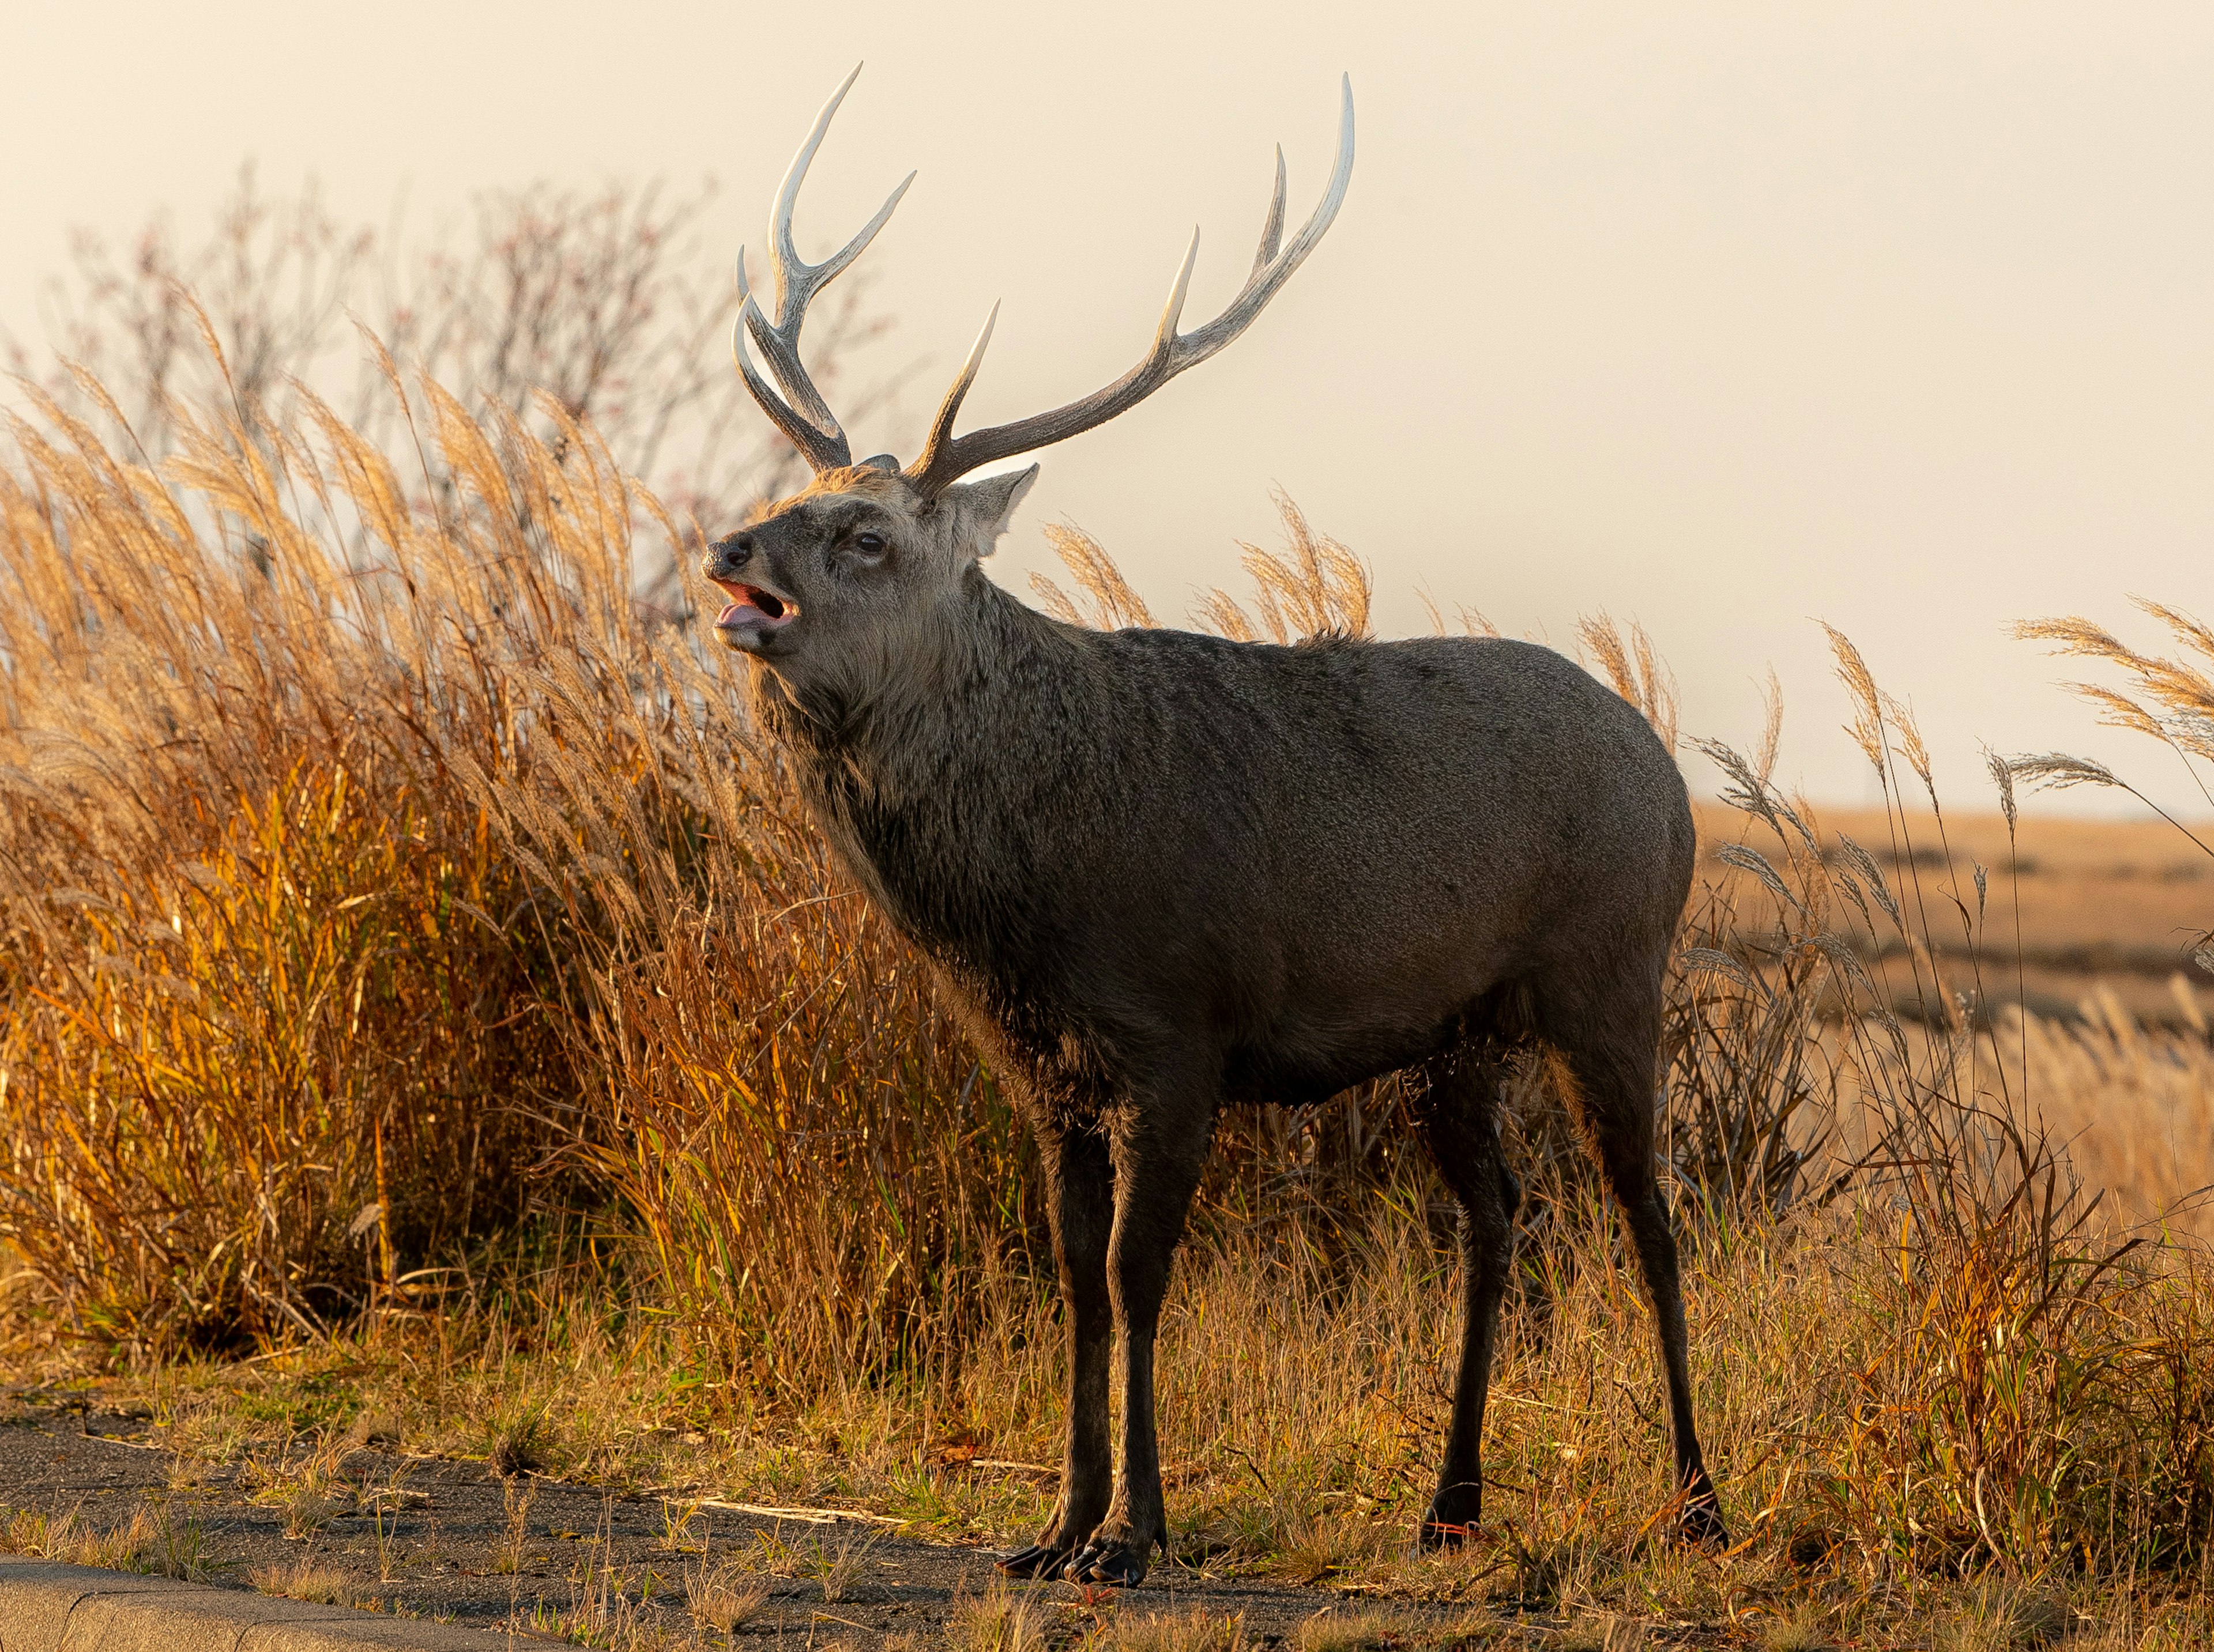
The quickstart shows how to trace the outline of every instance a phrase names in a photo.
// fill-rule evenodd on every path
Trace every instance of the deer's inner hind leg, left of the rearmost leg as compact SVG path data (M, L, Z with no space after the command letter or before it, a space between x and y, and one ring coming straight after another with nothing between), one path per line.
M1521 1185L1499 1147L1503 1076L1499 1050L1488 1041L1470 1041L1421 1072L1421 1136L1461 1205L1461 1375L1452 1388L1446 1462L1417 1535L1421 1548L1466 1541L1483 1512L1483 1395L1514 1258L1514 1211L1521 1209Z

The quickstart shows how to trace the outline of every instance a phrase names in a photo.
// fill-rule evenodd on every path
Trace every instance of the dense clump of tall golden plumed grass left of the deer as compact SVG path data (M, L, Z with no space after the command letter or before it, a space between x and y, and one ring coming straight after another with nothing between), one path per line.
M1023 1227L999 1092L631 600L675 525L558 405L425 396L441 485L306 394L179 410L159 476L15 427L18 1295L139 1351L321 1333L615 1189L728 1349L881 1357Z

